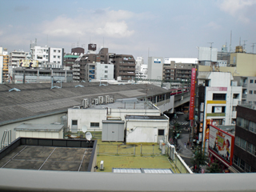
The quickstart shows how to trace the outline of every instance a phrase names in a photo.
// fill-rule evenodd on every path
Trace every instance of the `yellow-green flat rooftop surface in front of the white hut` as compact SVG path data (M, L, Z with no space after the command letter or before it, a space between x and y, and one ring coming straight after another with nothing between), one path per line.
M161 154L157 143L125 145L122 142L102 142L101 132L92 134L93 139L98 140L97 172L112 172L112 168L147 168L171 169L174 174L180 174L174 162L166 154ZM101 161L104 161L104 170L99 169Z

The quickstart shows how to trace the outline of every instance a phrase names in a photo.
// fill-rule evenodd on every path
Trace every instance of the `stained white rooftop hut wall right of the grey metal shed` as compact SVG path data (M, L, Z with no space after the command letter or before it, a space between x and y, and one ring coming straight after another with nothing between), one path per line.
M167 138L169 119L126 119L126 142L159 142L158 130L165 130Z

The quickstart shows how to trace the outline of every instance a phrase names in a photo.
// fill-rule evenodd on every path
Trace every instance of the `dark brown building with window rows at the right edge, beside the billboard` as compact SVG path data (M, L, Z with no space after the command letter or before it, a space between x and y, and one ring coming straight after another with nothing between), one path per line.
M256 172L255 106L237 106L233 166L240 172Z

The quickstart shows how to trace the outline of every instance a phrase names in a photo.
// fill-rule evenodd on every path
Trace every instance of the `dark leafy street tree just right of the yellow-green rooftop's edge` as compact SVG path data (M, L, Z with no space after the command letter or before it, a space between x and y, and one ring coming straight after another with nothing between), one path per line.
M197 146L194 149L194 155L191 158L191 162L194 165L194 172L199 173L201 170L201 166L205 166L207 163L207 157L204 151L201 149L201 147Z

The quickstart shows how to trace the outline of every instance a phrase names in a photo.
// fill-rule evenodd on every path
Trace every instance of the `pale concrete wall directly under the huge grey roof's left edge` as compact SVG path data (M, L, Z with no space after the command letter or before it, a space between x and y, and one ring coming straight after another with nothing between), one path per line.
M5 130L11 130L11 141L13 142L16 138L15 127L21 125L22 123L36 123L36 124L50 124L54 122L61 122L61 117L66 115L66 113L53 114L50 116L42 117L42 118L33 118L30 120L24 120L20 122L13 122L3 126L0 126L0 139L2 140L2 135Z

